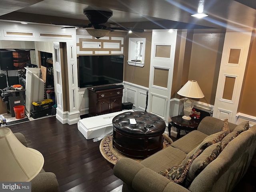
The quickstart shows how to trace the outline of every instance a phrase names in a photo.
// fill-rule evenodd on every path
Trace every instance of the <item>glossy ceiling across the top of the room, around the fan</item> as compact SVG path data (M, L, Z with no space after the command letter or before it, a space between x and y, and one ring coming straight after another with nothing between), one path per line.
M208 17L191 17L204 4ZM144 29L256 29L255 0L1 0L0 20L88 24L83 10L113 12L108 23Z

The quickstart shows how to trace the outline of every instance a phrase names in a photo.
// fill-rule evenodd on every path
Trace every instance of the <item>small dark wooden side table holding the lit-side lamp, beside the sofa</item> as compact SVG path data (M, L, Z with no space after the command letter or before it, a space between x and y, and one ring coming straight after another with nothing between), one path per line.
M185 130L186 132L191 132L193 130L196 130L200 123L199 120L193 119L193 118L190 120L182 119L182 115L172 117L171 119L172 119L172 121L169 122L169 124L168 124L169 137L171 136L171 127L172 126L177 128L177 131L178 131L177 138L180 138L180 130Z

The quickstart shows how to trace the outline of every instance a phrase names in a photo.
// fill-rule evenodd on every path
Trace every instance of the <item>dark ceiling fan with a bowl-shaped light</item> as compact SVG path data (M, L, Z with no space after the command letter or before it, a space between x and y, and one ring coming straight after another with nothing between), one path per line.
M80 25L80 24L68 24L70 27L63 28L87 28L87 32L96 37L104 37L109 32L114 30L124 30L124 31L132 31L132 32L144 32L143 29L135 29L135 28L126 28L126 27L107 27L104 24L108 21L110 17L112 17L112 12L102 11L102 10L84 10L84 14L87 16L90 23L88 25ZM67 25L63 23L52 23L55 25Z

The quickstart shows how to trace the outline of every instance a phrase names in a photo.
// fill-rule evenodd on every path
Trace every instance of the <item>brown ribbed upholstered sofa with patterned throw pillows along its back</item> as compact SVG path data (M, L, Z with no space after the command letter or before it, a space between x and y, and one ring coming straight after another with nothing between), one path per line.
M124 182L122 191L232 191L256 151L256 125L248 129L248 122L226 123L228 130L223 120L205 117L197 130L140 163L130 158L119 160L113 171ZM178 168L176 175L166 174L173 168Z

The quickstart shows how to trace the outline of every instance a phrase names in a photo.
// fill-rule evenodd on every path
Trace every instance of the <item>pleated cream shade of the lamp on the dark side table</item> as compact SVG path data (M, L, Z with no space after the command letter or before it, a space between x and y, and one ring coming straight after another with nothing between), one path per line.
M197 81L188 80L186 84L177 92L177 94L188 98L203 98L204 94Z

